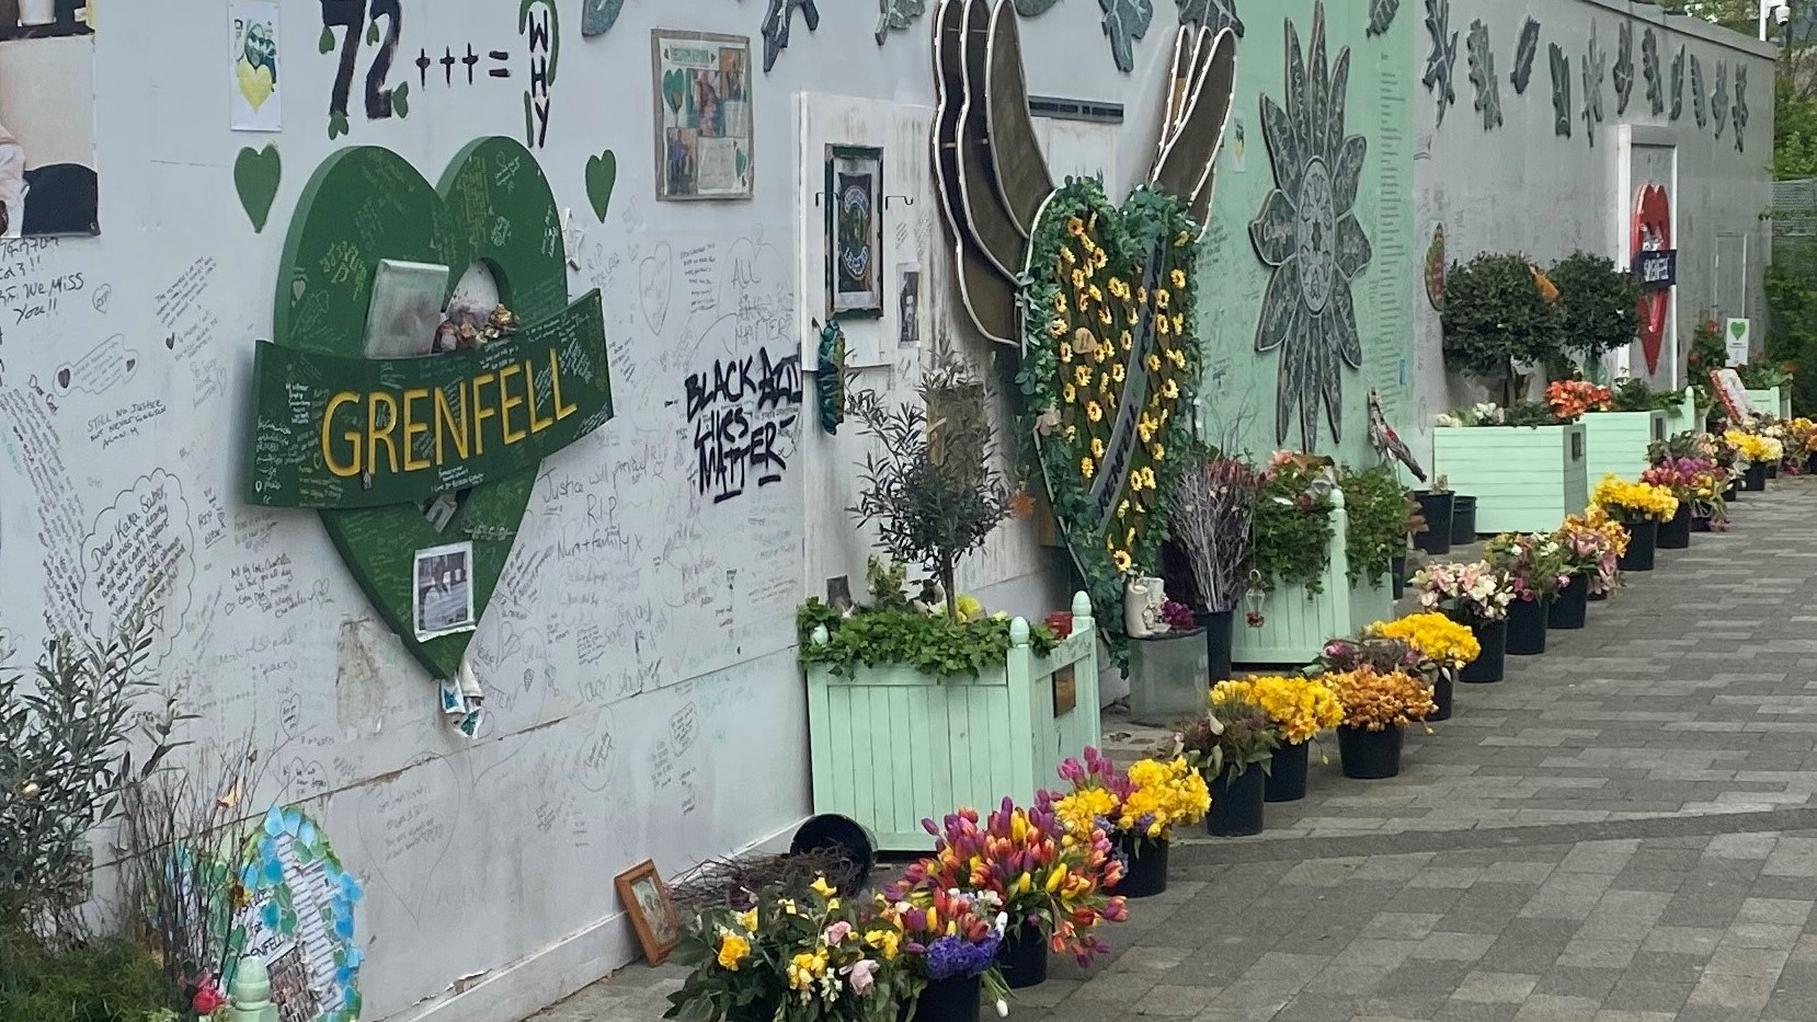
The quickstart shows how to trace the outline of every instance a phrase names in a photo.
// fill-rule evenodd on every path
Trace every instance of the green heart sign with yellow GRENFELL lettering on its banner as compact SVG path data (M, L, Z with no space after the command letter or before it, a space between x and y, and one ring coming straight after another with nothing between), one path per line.
M380 261L449 267L449 294L482 263L521 329L472 350L369 359ZM385 623L434 677L454 677L472 632L420 626L416 554L472 545L478 621L541 457L612 418L600 292L569 303L561 214L536 158L482 138L431 187L387 149L329 156L291 221L253 376L245 499L316 508Z

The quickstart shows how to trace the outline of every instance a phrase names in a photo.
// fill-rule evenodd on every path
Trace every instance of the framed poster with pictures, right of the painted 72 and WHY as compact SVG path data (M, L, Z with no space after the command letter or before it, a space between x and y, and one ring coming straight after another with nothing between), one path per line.
M656 198L750 198L750 40L656 29L650 60Z

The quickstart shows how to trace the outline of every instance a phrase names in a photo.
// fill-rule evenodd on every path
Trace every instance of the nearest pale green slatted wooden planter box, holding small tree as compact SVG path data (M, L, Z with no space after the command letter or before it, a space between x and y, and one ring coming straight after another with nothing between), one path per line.
M827 641L816 630L814 641ZM1056 712L1057 703L1057 712ZM981 677L916 668L807 672L814 813L850 817L881 851L928 851L923 819L1005 795L1034 804L1059 784L1059 764L1097 744L1097 626L1072 597L1072 635L1047 657L1028 648L1028 621L1010 623L1008 661Z

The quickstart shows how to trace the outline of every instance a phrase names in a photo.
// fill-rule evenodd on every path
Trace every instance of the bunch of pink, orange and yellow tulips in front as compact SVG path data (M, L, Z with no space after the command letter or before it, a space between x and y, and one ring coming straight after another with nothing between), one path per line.
M1105 830L1068 833L1050 808L1023 810L1008 799L985 821L967 808L947 815L943 826L921 826L938 839L934 855L908 866L889 888L890 900L988 891L1010 924L1034 926L1048 948L1072 953L1079 966L1107 951L1094 933L1097 924L1127 917L1123 899L1105 895L1123 879Z

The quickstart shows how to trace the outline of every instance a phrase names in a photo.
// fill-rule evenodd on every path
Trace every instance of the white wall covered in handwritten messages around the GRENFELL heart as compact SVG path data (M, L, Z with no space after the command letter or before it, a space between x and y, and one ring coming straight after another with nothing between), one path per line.
M861 448L845 432L819 436L805 405L781 447L783 479L716 503L696 483L685 379L760 349L787 358L807 339L799 310L818 298L798 280L796 93L925 113L930 42L921 20L879 49L874 5L821 0L819 31L798 15L792 45L756 80L756 200L654 201L650 29L749 34L761 53L763 7L627 0L609 34L585 40L580 0L558 0L560 76L538 156L585 229L571 289L605 294L618 414L541 467L472 644L492 713L478 742L447 730L431 681L374 619L316 517L236 494L253 345L271 330L298 192L340 145L394 149L434 180L472 138L521 136L516 4L403 0L389 82L411 84L409 116L365 118L374 49L362 45L351 134L336 142L325 129L338 60L318 51L314 0L282 2L276 136L227 127L223 2L107 4L93 109L104 234L0 251L0 626L29 650L47 626L87 623L114 583L89 572L85 546L134 490L164 486L180 554L158 675L205 715L189 737L256 741L269 775L253 810L305 802L365 880L369 1020L505 1022L556 1000L634 957L614 873L641 859L676 873L787 835L809 811L792 615L830 574L861 586L869 550L843 514ZM1123 102L1130 131L1152 133L1170 25L1163 5L1125 76L1096 5L1061 5L1023 27L1030 89ZM443 84L440 65L423 84L420 51L469 44L483 60L472 85L460 69ZM492 49L509 54L496 65L511 78L485 74ZM1090 138L1063 134L1068 165L1088 160ZM254 234L231 167L267 142L283 183ZM600 225L583 167L603 149L620 180ZM1145 154L1123 149L1117 180L1134 180ZM923 307L934 310L947 241L932 200L905 207L892 238L898 225L908 231L898 254L918 249L932 274ZM859 385L912 383L914 352L887 354ZM1012 525L967 565L965 585L1039 617L1065 606L1063 572L1045 570L1056 559Z

